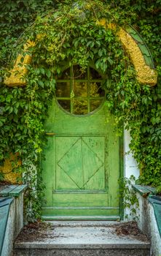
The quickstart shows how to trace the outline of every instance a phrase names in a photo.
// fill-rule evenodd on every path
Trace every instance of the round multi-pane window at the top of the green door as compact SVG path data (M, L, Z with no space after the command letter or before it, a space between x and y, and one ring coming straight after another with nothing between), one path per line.
M68 67L57 79L56 97L60 106L74 115L85 115L97 109L104 100L101 75L87 67L82 72L78 65Z

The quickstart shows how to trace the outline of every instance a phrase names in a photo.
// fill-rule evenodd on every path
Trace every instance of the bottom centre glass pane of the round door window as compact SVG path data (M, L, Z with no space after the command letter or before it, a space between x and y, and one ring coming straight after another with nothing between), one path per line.
M73 99L73 113L75 115L87 114L87 100Z

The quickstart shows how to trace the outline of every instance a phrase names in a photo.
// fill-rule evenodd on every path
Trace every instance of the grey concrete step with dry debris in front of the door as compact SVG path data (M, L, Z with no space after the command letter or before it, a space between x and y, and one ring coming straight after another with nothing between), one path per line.
M15 241L15 256L39 255L148 256L150 244L134 222L50 222Z

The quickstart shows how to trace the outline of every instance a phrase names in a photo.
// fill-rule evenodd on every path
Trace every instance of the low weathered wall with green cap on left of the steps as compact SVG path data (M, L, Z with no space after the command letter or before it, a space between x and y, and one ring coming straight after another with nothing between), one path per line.
M13 243L23 228L23 194L27 185L0 186L0 255L12 256Z

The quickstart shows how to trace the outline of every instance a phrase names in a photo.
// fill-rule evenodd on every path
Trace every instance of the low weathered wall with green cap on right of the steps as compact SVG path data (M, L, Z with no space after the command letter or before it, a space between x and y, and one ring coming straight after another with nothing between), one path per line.
M138 227L151 238L152 255L161 255L161 197L157 189L149 186L132 185L136 191L139 207L136 209Z

